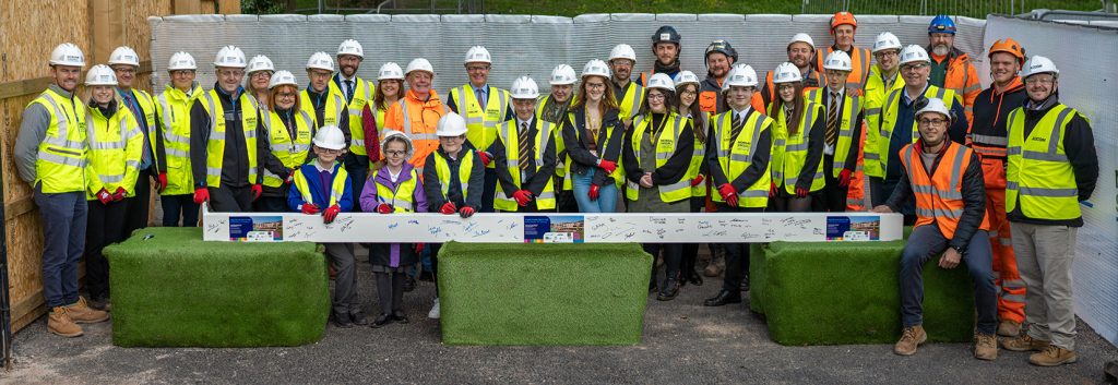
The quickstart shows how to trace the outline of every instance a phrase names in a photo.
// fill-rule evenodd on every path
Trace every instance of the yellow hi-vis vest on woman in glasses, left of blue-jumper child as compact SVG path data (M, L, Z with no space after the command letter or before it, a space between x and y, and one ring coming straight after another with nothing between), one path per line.
M295 137L287 133L287 126L283 124L283 118L274 110L268 112L267 118L263 119L264 128L268 132L268 148L272 154L283 163L286 169L295 169L306 162L306 155L311 152L311 128L314 127L314 118L305 110L295 112ZM264 185L278 187L283 185L283 179L264 169Z

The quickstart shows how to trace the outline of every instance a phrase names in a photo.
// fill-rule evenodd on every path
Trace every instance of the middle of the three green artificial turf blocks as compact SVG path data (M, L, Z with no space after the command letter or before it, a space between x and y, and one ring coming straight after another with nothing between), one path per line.
M443 343L639 344L651 270L636 243L446 243Z

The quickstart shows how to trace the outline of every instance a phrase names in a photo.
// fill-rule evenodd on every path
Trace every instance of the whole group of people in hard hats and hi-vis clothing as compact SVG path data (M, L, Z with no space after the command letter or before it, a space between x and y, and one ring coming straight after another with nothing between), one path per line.
M797 33L788 60L764 78L714 40L700 79L680 68L680 35L664 26L652 35L656 61L635 79L636 54L623 44L581 74L555 67L547 95L530 77L510 89L490 85L493 58L474 46L463 60L470 83L445 98L424 58L362 79L363 48L345 40L334 56L310 57L303 89L267 57L246 60L227 46L205 90L195 58L177 52L159 96L133 88L139 56L121 47L88 70L82 100L74 93L85 59L63 44L51 54L54 83L23 114L15 156L44 218L48 329L76 336L75 323L107 318L101 249L143 225L151 184L163 225L196 225L207 202L331 222L350 211L608 213L620 201L628 212L844 212L869 201L916 227L901 258L897 354L915 354L927 338L921 270L938 258L941 268L966 264L975 282L977 358L994 359L1002 335L1006 349L1038 350L1033 364L1074 362L1071 261L1098 160L1088 121L1059 102L1055 65L997 40L983 89L954 47L949 17L932 20L927 48L890 32L872 49L855 47L849 12L830 27L832 45ZM411 268L429 256L437 272L438 244L364 247L380 304L372 326L406 323ZM724 264L726 276L703 305L741 302L748 246L709 247L703 272ZM663 261L663 278L654 268L648 285L656 299L702 283L699 244L644 249ZM331 319L341 327L369 324L353 250L326 246ZM88 302L77 293L83 253Z

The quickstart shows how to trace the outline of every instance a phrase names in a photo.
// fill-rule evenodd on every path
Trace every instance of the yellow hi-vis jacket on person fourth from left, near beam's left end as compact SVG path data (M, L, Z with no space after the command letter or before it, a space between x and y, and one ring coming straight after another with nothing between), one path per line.
M162 195L195 192L195 176L190 169L190 108L202 93L202 87L197 83L189 95L168 84L167 89L159 95L159 117L163 131L163 150L167 153L167 158L163 160L167 162L167 186L163 187Z

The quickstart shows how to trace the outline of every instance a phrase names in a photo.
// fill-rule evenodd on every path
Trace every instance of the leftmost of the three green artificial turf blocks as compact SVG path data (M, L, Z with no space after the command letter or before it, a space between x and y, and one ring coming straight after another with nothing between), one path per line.
M315 243L205 242L199 228L148 228L105 256L117 346L297 346L325 329Z

